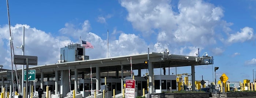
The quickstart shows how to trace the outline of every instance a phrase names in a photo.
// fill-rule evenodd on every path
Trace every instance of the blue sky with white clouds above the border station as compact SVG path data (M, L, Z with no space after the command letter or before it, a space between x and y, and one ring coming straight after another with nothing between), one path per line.
M202 75L214 80L212 68L220 67L217 80L225 73L239 82L252 81L256 70L255 5L255 0L27 0L9 1L9 10L14 47L22 45L25 26L25 55L38 56L39 65L56 63L60 48L79 43L80 36L94 45L86 49L90 59L105 58L109 30L109 57L147 48L196 56L200 48L200 56L214 56L214 65L196 66L196 80ZM0 65L11 69L6 1L0 1L0 13ZM191 73L190 67L178 67L181 73Z

